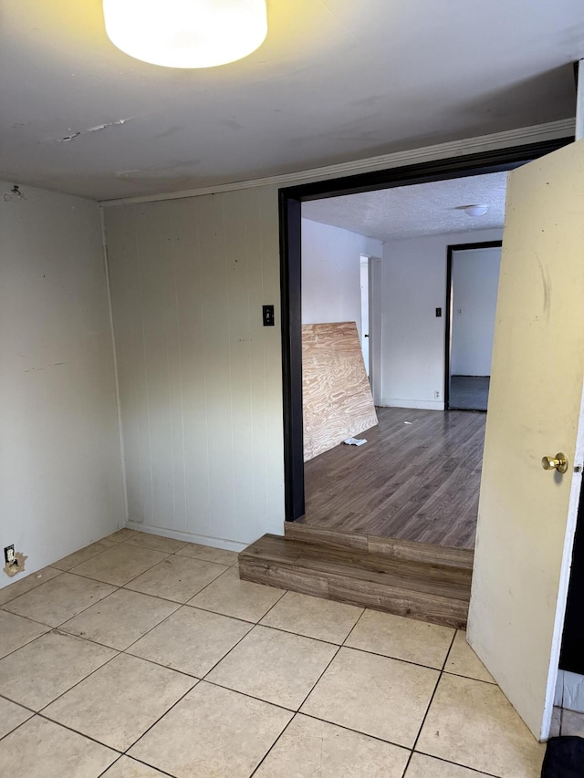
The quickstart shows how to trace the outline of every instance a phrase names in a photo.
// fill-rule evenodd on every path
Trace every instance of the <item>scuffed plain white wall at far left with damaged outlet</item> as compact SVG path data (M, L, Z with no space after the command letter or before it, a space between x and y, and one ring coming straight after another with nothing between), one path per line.
M123 526L125 506L99 207L30 187L3 198L11 188L0 182L0 553L14 543L27 575Z

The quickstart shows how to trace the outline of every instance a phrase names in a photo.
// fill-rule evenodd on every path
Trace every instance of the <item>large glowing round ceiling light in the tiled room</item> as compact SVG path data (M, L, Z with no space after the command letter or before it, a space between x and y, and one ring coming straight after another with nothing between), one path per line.
M103 0L110 41L163 67L214 67L247 57L267 35L266 0Z

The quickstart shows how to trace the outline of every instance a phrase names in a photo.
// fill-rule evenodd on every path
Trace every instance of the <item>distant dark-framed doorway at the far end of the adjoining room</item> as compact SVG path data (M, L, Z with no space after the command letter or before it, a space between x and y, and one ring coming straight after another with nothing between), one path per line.
M486 411L501 241L448 246L444 407Z

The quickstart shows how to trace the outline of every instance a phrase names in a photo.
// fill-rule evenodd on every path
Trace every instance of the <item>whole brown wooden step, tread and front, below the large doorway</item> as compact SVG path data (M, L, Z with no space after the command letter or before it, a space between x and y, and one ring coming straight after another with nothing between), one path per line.
M245 581L465 628L472 571L365 548L265 534L239 555Z

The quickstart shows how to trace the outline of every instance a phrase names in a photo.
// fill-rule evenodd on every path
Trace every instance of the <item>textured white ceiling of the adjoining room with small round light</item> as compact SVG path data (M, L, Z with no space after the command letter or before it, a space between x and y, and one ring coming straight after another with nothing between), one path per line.
M503 227L506 172L398 186L302 203L302 216L380 241ZM464 205L485 204L484 216Z

